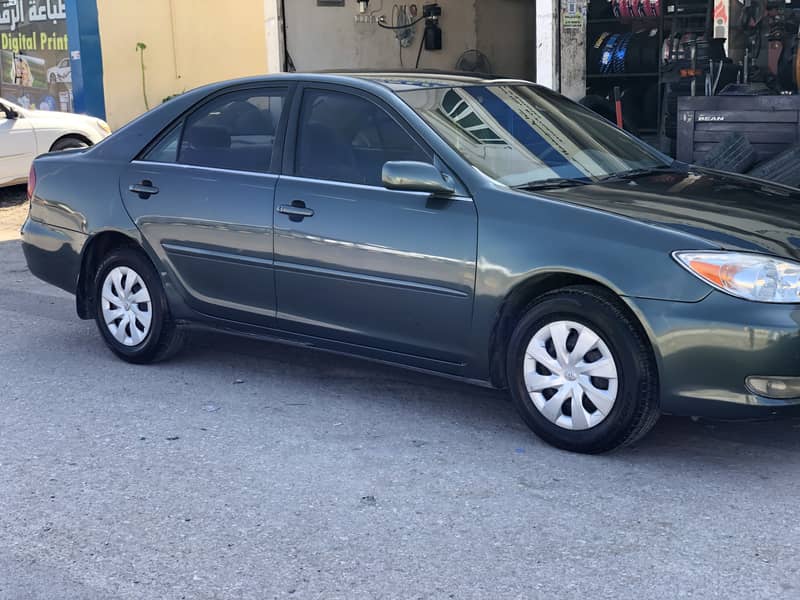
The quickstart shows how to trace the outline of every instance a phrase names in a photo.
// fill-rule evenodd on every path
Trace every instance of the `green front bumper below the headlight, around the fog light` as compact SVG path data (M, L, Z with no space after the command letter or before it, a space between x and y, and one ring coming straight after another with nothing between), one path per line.
M750 376L800 376L800 305L714 291L693 303L627 299L656 352L661 408L719 419L800 416L800 398L752 393Z

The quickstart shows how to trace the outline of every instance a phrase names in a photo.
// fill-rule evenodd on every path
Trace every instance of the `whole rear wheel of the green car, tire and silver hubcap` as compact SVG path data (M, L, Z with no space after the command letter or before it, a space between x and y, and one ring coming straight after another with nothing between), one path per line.
M134 248L112 251L95 282L95 320L114 354L128 362L165 360L183 343L150 260Z

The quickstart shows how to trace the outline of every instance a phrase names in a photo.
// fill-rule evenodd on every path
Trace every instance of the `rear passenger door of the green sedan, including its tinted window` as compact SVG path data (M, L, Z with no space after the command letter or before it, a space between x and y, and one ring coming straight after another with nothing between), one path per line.
M120 180L128 212L187 303L273 325L273 200L287 87L213 97L164 134Z

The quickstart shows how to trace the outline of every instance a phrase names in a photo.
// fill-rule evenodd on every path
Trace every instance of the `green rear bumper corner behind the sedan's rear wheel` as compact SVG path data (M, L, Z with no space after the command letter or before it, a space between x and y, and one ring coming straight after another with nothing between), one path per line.
M28 218L22 226L22 251L39 279L74 294L81 269L81 251L88 236Z

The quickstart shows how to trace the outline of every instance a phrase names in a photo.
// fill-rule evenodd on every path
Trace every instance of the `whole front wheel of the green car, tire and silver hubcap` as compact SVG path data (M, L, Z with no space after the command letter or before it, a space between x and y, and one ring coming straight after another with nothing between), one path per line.
M522 418L558 448L614 450L643 437L660 415L649 344L599 288L565 288L531 304L511 336L507 371Z

